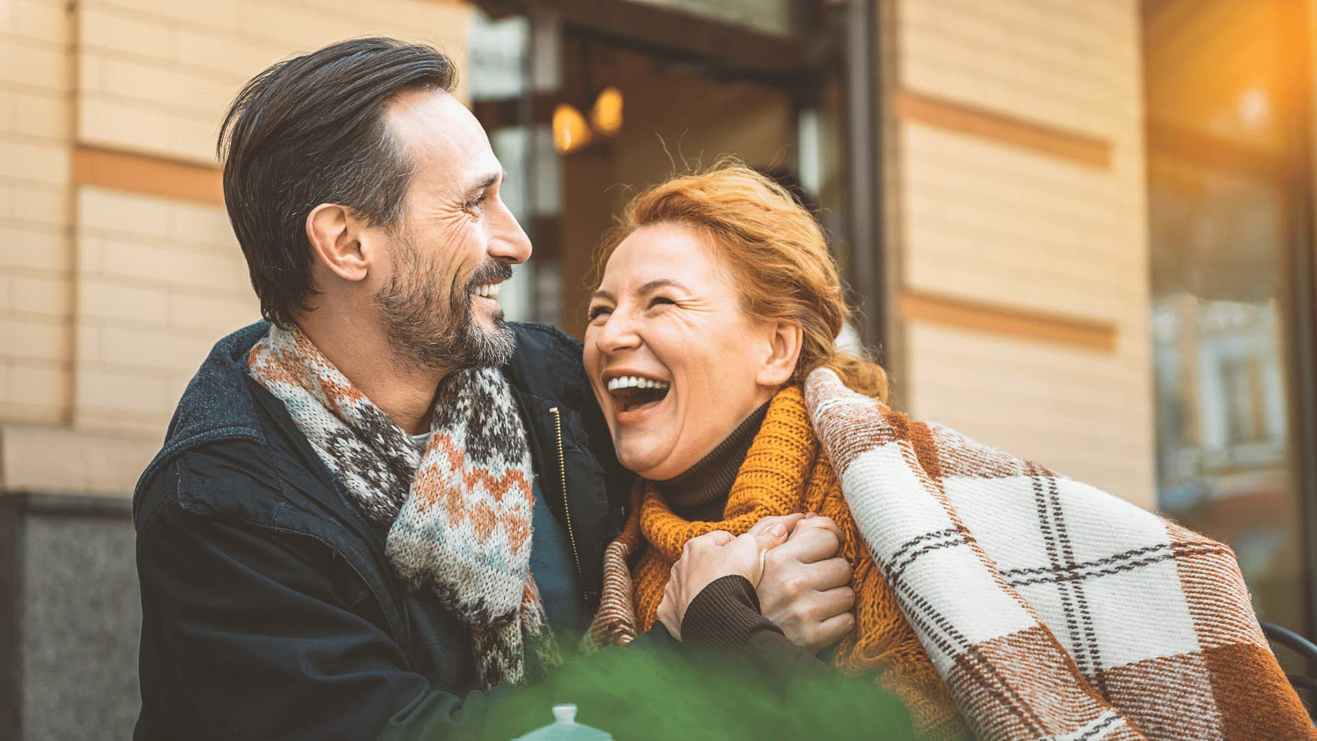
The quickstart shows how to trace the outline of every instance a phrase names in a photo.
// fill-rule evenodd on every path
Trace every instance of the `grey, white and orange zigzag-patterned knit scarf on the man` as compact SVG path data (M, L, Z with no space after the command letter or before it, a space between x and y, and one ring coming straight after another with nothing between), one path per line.
M498 370L450 373L435 394L424 454L300 330L270 332L248 372L269 389L352 502L389 525L386 554L471 632L483 688L528 679L557 646L531 578L531 451Z

